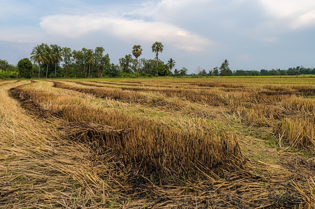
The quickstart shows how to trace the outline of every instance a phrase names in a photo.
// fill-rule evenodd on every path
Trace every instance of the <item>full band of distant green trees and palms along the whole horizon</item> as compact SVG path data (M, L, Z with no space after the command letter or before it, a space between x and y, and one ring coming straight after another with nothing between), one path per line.
M68 47L42 43L33 48L30 60L33 62L32 77L38 78L102 78L102 77L153 77L153 76L295 76L315 75L315 68L303 66L289 69L265 70L230 70L228 60L224 60L220 67L205 70L201 67L194 69L188 75L186 67L175 68L176 61L170 58L167 63L159 59L163 52L163 44L152 44L154 59L139 58L142 54L140 45L134 45L127 54L119 59L119 64L111 63L109 54L103 47L93 49L71 50ZM134 57L134 58L133 58ZM0 78L17 78L18 69L8 61L0 59ZM190 69L193 70L193 69ZM173 72L172 72L173 71ZM20 77L25 77L21 76Z

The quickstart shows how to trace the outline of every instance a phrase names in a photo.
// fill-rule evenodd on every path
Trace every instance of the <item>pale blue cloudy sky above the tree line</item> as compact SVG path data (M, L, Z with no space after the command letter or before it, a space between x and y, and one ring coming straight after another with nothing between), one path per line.
M103 47L111 63L132 55L207 72L315 68L314 0L0 0L0 59L16 65L41 43Z

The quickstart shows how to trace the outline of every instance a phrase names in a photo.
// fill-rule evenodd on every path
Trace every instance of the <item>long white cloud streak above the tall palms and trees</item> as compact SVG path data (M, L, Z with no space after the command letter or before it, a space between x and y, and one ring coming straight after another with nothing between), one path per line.
M77 38L86 34L102 33L125 41L162 41L187 51L202 51L212 44L210 40L171 24L107 17L102 14L48 16L42 19L40 26L49 35Z

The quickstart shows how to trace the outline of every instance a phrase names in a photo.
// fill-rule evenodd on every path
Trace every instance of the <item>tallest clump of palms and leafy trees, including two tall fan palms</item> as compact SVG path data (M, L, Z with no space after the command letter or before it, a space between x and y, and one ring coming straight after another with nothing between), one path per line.
M163 52L163 44L155 42L152 45L154 59L139 57L142 54L140 45L134 45L131 54L119 59L119 64L110 62L109 54L103 47L93 49L71 50L68 47L42 43L33 48L30 60L37 65L38 78L91 78L91 77L138 77L138 76L168 76L172 75L175 60L169 59L167 64L159 59Z

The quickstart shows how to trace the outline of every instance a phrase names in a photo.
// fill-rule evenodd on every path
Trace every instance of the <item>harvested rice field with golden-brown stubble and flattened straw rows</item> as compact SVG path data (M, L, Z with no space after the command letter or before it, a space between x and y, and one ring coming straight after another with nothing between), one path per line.
M315 208L315 78L0 81L0 208Z

